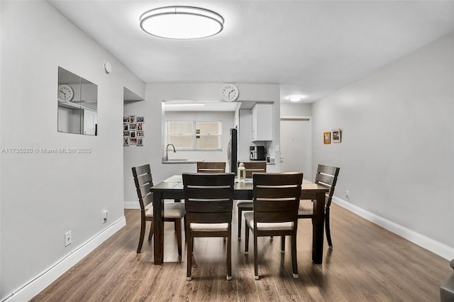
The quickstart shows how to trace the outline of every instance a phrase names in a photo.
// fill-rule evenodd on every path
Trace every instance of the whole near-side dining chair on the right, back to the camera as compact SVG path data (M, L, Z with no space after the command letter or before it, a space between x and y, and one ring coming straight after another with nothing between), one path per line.
M253 174L253 212L245 217L245 253L249 251L249 230L254 235L254 278L258 275L257 238L281 236L281 251L285 236L292 237L292 272L298 278L297 228L301 196L302 172Z

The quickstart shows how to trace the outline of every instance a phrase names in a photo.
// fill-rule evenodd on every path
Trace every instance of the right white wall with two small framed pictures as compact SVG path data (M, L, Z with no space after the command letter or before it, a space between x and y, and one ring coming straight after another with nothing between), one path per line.
M316 164L341 167L335 195L454 248L453 35L317 101ZM323 145L323 131L342 143ZM454 257L452 252L451 257Z

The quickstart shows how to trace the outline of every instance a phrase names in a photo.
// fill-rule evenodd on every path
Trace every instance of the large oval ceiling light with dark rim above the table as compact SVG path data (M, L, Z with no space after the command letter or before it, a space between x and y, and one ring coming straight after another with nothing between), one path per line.
M140 16L140 28L160 38L199 39L223 30L224 19L218 13L194 6L165 6Z

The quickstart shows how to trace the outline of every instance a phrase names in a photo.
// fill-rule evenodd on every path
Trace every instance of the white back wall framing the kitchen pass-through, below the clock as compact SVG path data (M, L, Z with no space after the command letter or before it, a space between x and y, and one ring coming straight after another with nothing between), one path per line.
M194 99L220 100L220 90L224 83L218 84L147 84L145 101L126 102L124 114L145 116L145 139L143 147L125 147L124 150L124 200L125 206L137 203L134 184L131 180L131 167L150 163L155 183L182 172L194 172L195 164L162 164L164 145L162 142L163 100ZM273 138L279 142L279 85L275 84L236 84L240 90L238 101L273 101ZM226 152L225 152L226 154ZM279 155L276 155L279 158ZM279 169L279 167L277 167Z

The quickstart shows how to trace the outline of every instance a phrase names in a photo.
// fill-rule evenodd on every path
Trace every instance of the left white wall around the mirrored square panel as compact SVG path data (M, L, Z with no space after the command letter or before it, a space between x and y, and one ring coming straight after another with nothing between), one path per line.
M104 72L106 61L111 74ZM98 85L98 136L57 133L59 66ZM0 155L0 299L124 225L123 86L145 91L140 79L47 2L1 1L1 147L33 153ZM91 152L35 152L63 147ZM72 244L65 247L68 230Z

